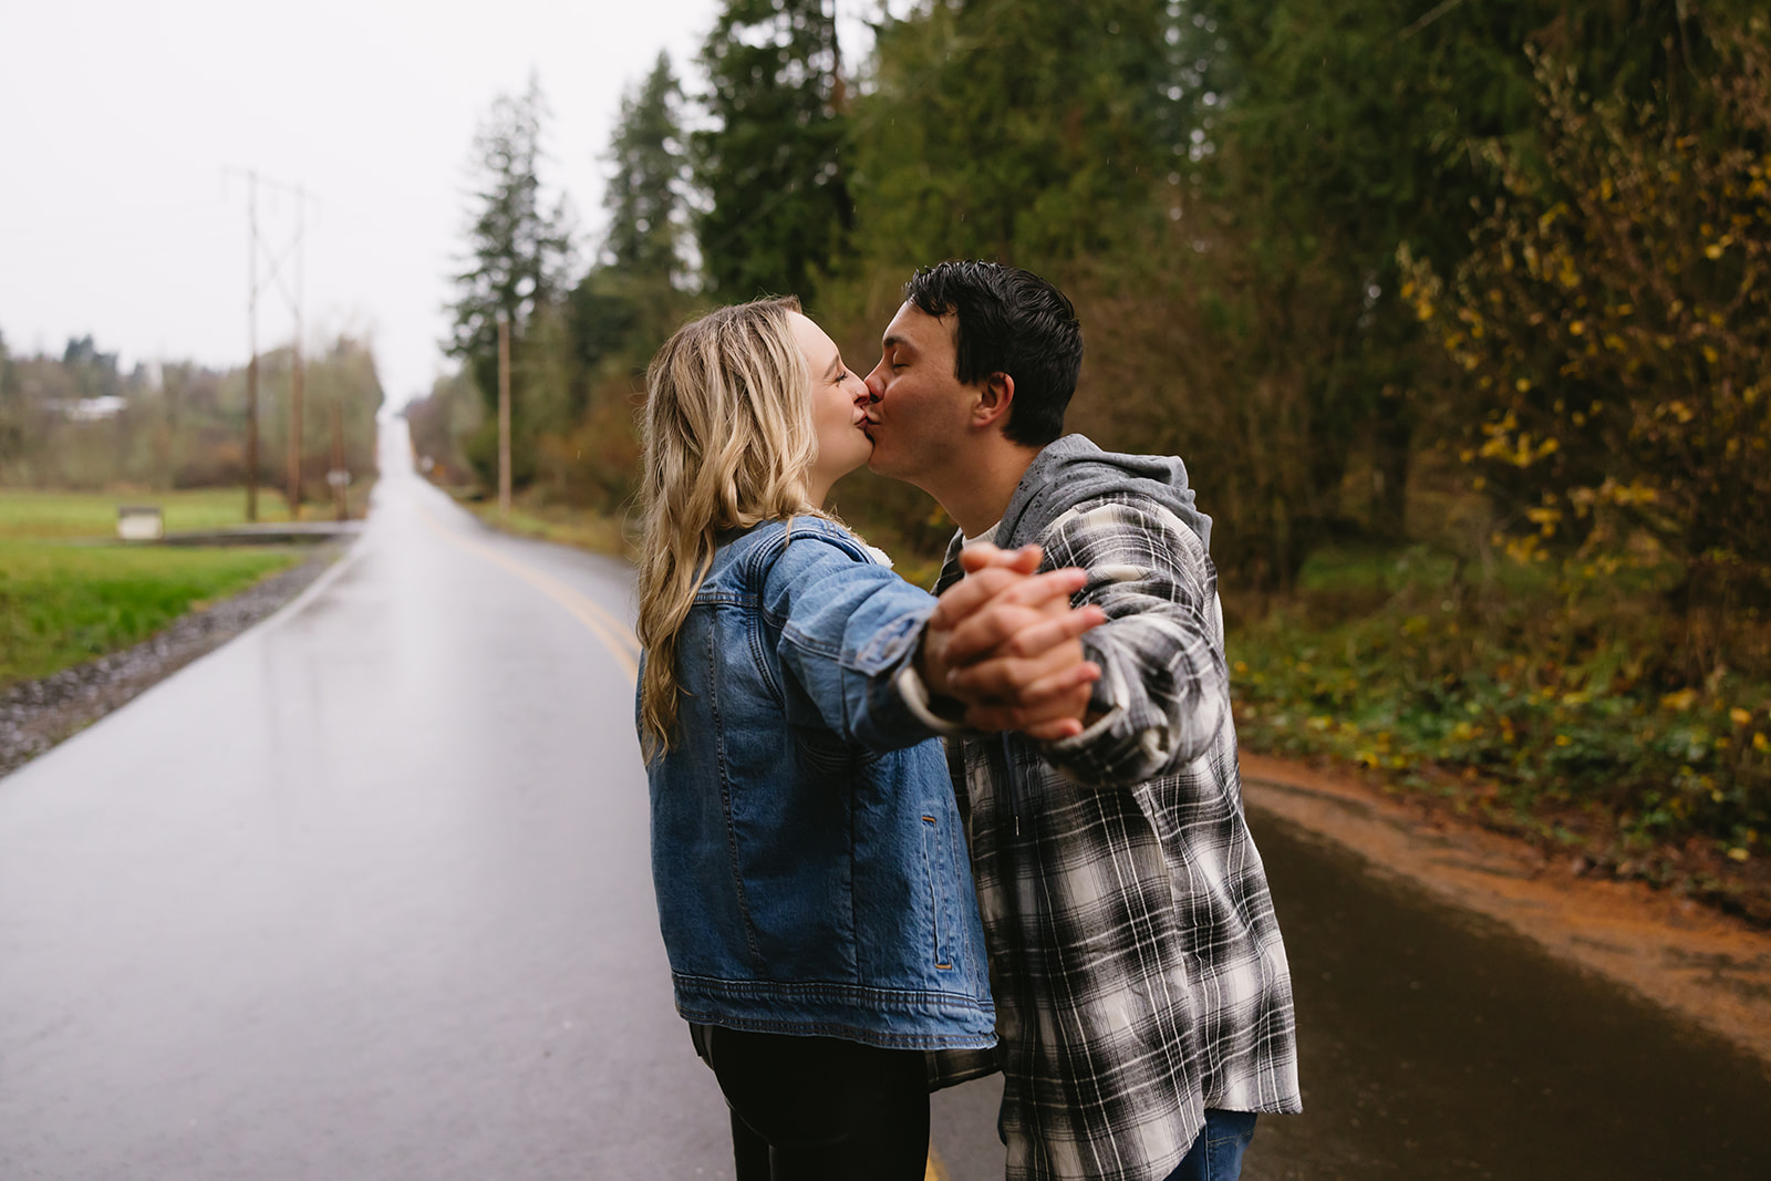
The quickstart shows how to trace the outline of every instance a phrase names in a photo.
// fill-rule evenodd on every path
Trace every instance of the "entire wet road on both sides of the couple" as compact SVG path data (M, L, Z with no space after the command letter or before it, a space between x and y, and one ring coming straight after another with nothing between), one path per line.
M480 526L391 423L321 583L0 779L0 1181L730 1177L630 584ZM1249 1181L1771 1177L1757 1062L1252 822L1309 1112ZM937 1096L932 1176L1001 1177L999 1092Z

